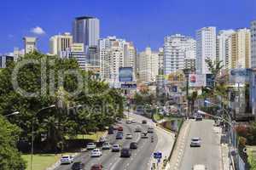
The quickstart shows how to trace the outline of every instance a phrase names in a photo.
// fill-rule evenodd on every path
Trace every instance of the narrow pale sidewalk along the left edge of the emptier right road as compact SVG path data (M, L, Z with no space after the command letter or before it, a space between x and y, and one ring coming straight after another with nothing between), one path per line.
M188 131L190 127L190 121L186 120L183 122L183 127L177 137L177 142L173 148L172 157L169 165L166 166L166 170L178 170L183 157L185 144L188 138Z

